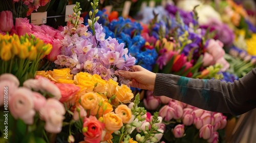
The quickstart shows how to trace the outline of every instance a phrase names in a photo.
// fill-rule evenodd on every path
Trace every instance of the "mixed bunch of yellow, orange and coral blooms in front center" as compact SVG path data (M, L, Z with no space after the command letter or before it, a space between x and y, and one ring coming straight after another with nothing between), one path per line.
M67 128L62 128L57 139L61 139L61 134L67 134L65 140L69 142L129 142L135 139L157 142L161 139L161 117L155 113L146 118L146 110L138 107L139 95L131 103L134 94L129 87L119 86L112 79L103 80L97 74L80 72L74 76L70 71L70 68L37 71L38 76L50 79L60 89L59 101L66 108L63 125ZM145 121L148 124L144 124ZM148 133L138 134L143 130Z

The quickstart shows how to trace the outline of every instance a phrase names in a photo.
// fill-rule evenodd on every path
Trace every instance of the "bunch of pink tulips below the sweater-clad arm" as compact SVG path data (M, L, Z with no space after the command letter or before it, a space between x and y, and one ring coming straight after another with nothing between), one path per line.
M162 141L218 142L224 139L221 130L226 126L227 117L222 113L202 110L167 97L155 97L152 91L146 91L143 103L149 112L159 110L166 126Z

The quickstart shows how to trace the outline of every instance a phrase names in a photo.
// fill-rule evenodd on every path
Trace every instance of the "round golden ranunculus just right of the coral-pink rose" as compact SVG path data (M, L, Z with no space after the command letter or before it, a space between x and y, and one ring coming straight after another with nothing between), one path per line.
M98 96L93 92L85 93L81 96L81 105L84 109L90 110L99 104Z

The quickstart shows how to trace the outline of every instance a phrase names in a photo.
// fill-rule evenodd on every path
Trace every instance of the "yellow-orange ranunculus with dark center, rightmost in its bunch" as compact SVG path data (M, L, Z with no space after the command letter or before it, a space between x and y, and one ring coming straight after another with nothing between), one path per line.
M127 124L132 117L132 110L124 104L117 106L115 113L122 118L124 124Z

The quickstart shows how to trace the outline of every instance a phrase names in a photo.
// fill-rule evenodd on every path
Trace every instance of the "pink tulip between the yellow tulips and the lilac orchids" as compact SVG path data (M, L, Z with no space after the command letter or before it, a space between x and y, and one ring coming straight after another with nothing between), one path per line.
M53 39L52 43L52 51L49 55L47 55L47 59L50 61L55 61L57 60L57 56L60 54L61 51L61 42L59 39Z

